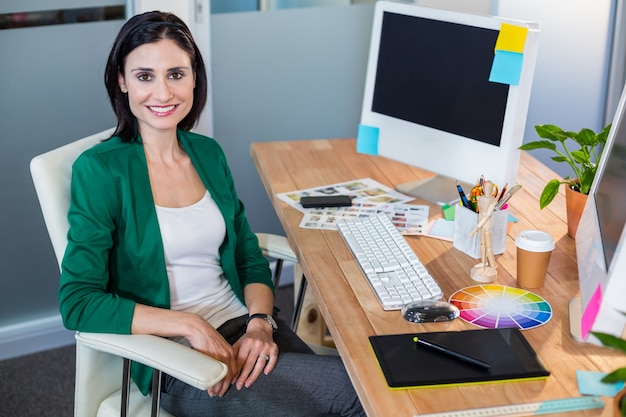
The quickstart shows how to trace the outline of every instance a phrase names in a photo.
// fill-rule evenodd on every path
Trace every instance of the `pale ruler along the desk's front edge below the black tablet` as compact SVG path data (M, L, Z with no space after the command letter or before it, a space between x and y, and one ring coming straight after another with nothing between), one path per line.
M472 408L443 413L419 414L415 417L491 417L491 416L539 416L543 414L565 413L568 411L602 408L604 402L598 396L563 398L525 404L511 404L496 407Z

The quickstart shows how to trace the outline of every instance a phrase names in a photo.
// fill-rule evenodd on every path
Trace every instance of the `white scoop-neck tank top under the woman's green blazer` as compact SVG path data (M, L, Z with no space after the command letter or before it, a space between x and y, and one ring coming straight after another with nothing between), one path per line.
M219 248L224 218L207 191L187 207L156 206L163 238L172 310L199 314L218 328L248 313L224 277Z

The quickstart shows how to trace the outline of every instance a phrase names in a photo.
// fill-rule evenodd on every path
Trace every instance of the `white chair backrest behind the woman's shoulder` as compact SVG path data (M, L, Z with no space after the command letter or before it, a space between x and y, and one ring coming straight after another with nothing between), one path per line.
M69 229L67 211L70 207L72 164L84 150L109 138L114 130L107 129L79 139L38 155L30 162L31 176L59 267L67 246Z

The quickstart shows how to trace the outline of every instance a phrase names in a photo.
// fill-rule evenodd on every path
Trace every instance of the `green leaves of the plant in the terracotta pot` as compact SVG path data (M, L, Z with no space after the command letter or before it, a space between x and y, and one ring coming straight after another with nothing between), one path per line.
M528 142L519 147L523 151L535 149L549 149L557 155L552 157L555 162L566 162L572 171L573 177L565 177L563 180L550 180L539 198L539 206L543 209L554 200L559 192L559 186L566 184L568 187L582 193L589 194L589 189L596 175L597 163L600 160L604 145L609 136L611 125L607 125L600 133L591 129L581 129L580 132L567 132L555 125L537 125L535 130L540 138ZM568 145L570 142L573 144ZM560 144L560 147L557 146ZM570 150L570 146L578 145L579 149Z

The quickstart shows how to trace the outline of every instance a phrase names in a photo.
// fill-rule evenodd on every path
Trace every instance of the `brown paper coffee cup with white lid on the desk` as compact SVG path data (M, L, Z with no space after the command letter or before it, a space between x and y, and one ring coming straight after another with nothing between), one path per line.
M524 230L515 239L515 246L517 284L522 288L543 287L555 247L552 236L541 230Z

